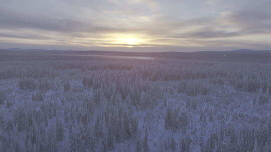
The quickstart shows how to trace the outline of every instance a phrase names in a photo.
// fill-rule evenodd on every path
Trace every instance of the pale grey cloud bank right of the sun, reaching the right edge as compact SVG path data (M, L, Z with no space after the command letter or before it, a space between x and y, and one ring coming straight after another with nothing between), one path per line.
M230 24L225 25L223 22L229 21ZM216 37L234 37L249 34L271 33L271 13L268 12L252 12L242 10L230 12L226 16L217 16L213 18L196 18L172 24L172 28L176 29L193 26L202 26L189 32L174 32L169 37L175 38L216 38ZM232 28L238 30L231 31Z

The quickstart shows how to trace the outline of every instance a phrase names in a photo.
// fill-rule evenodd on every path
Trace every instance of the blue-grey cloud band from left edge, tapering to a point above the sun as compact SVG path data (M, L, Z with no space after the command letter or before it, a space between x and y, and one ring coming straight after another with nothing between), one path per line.
M35 16L0 9L0 28L28 28L59 32L125 32L132 29L83 23L70 18Z

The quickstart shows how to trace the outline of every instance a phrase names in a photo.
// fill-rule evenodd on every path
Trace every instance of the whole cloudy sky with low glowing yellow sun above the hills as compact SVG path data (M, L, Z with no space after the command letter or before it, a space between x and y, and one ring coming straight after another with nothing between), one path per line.
M0 0L0 48L271 49L271 0Z

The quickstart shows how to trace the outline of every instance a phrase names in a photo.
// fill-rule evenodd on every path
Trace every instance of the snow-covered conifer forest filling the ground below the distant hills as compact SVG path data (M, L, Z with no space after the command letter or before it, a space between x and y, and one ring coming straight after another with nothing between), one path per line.
M271 151L271 64L0 57L0 151ZM23 54L22 53L22 54Z

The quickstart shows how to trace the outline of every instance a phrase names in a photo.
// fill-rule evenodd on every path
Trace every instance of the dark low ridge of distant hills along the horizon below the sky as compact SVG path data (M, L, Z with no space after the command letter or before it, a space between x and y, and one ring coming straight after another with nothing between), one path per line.
M160 59L189 59L189 60L219 60L219 61L246 61L246 62L271 62L271 50L236 49L228 51L194 51L194 52L124 52L101 50L48 50L48 49L21 49L9 48L11 52L35 52L55 55L80 55L80 56L151 56Z

